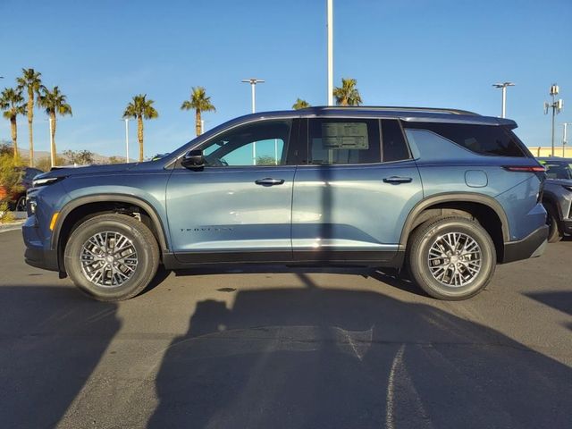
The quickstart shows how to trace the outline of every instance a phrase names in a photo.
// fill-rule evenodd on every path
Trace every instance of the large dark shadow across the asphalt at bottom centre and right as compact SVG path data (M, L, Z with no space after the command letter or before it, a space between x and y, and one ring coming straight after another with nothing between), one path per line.
M436 307L299 279L198 302L148 427L569 424L568 366Z

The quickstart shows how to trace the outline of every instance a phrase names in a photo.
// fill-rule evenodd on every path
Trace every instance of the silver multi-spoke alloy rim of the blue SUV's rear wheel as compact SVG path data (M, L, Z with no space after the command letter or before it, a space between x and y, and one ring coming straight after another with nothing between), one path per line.
M433 241L427 255L427 265L437 282L454 288L466 286L481 272L481 247L463 232L448 232Z

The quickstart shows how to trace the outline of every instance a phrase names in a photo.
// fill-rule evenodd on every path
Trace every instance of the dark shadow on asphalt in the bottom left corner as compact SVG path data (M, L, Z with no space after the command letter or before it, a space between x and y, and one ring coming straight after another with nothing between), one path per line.
M0 427L55 427L121 323L70 288L2 286Z

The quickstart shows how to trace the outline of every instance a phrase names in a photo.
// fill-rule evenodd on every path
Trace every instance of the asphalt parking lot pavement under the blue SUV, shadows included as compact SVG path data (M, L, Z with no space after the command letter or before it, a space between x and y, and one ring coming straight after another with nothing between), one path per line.
M572 240L461 302L299 271L100 303L23 248L0 233L2 428L572 426Z

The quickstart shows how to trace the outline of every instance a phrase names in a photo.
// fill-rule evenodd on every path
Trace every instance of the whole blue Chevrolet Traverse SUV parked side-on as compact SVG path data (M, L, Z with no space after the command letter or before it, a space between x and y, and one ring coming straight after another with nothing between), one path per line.
M546 243L544 168L516 123L466 111L250 114L170 155L38 176L26 262L130 299L158 265L350 265L467 299Z

